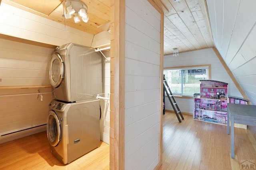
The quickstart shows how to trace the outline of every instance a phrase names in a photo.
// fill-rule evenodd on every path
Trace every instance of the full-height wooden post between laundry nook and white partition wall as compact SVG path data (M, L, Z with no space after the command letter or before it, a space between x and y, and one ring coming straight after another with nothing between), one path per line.
M110 169L124 169L125 1L111 1Z

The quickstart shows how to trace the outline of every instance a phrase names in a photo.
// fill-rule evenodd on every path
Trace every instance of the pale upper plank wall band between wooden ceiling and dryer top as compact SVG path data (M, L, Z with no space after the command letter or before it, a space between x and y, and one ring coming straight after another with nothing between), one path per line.
M60 46L76 43L91 47L94 35L64 26L19 8L1 3L0 33L40 43ZM99 44L97 44L99 46Z

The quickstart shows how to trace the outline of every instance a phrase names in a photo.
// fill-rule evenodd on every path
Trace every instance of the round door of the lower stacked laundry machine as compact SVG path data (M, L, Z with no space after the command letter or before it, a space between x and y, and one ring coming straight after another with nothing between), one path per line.
M48 113L47 137L50 145L52 145L53 147L56 147L61 140L60 121L53 110L50 110Z

